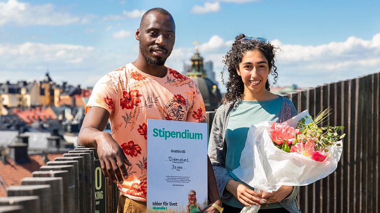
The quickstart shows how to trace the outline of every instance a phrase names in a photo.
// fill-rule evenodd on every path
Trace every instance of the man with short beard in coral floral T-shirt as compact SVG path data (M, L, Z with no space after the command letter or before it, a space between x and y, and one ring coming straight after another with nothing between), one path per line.
M104 175L118 181L118 212L146 211L147 119L205 119L197 84L165 65L175 42L171 14L162 8L147 11L135 38L138 58L95 84L79 133L80 145L97 147ZM102 132L108 118L112 135ZM210 200L221 205L211 164L208 176Z

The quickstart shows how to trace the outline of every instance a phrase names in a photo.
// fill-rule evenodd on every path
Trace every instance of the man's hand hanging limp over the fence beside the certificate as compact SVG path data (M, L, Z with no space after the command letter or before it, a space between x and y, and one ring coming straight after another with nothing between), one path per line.
M100 161L101 170L104 176L111 178L114 182L123 183L123 176L128 178L128 172L125 165L131 166L124 155L119 144L108 133L101 132L95 137L97 143L97 152Z

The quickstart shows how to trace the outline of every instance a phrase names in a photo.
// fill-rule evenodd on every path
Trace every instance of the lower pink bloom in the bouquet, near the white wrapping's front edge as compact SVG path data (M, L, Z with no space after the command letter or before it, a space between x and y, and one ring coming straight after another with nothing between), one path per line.
M314 149L314 143L308 141L306 143L296 143L290 148L291 153L300 153L314 161L326 162L328 157L324 151L316 151Z

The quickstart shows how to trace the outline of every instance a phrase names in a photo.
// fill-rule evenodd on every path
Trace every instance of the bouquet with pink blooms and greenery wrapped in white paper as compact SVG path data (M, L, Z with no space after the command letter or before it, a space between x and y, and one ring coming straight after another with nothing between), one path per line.
M314 120L305 110L284 123L264 121L248 131L240 166L232 172L256 191L277 191L282 185L305 186L335 171L342 154L341 126L319 127L330 113ZM253 158L252 158L253 157ZM257 212L260 206L241 212Z

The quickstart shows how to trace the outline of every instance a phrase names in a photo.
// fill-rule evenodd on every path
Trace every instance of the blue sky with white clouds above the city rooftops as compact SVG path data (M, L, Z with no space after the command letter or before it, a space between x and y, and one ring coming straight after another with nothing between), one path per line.
M280 47L278 85L311 87L380 71L380 1L0 0L0 82L39 80L48 69L59 83L91 86L137 57L134 33L153 7L175 19L167 65L180 72L197 40L220 79L239 33Z

